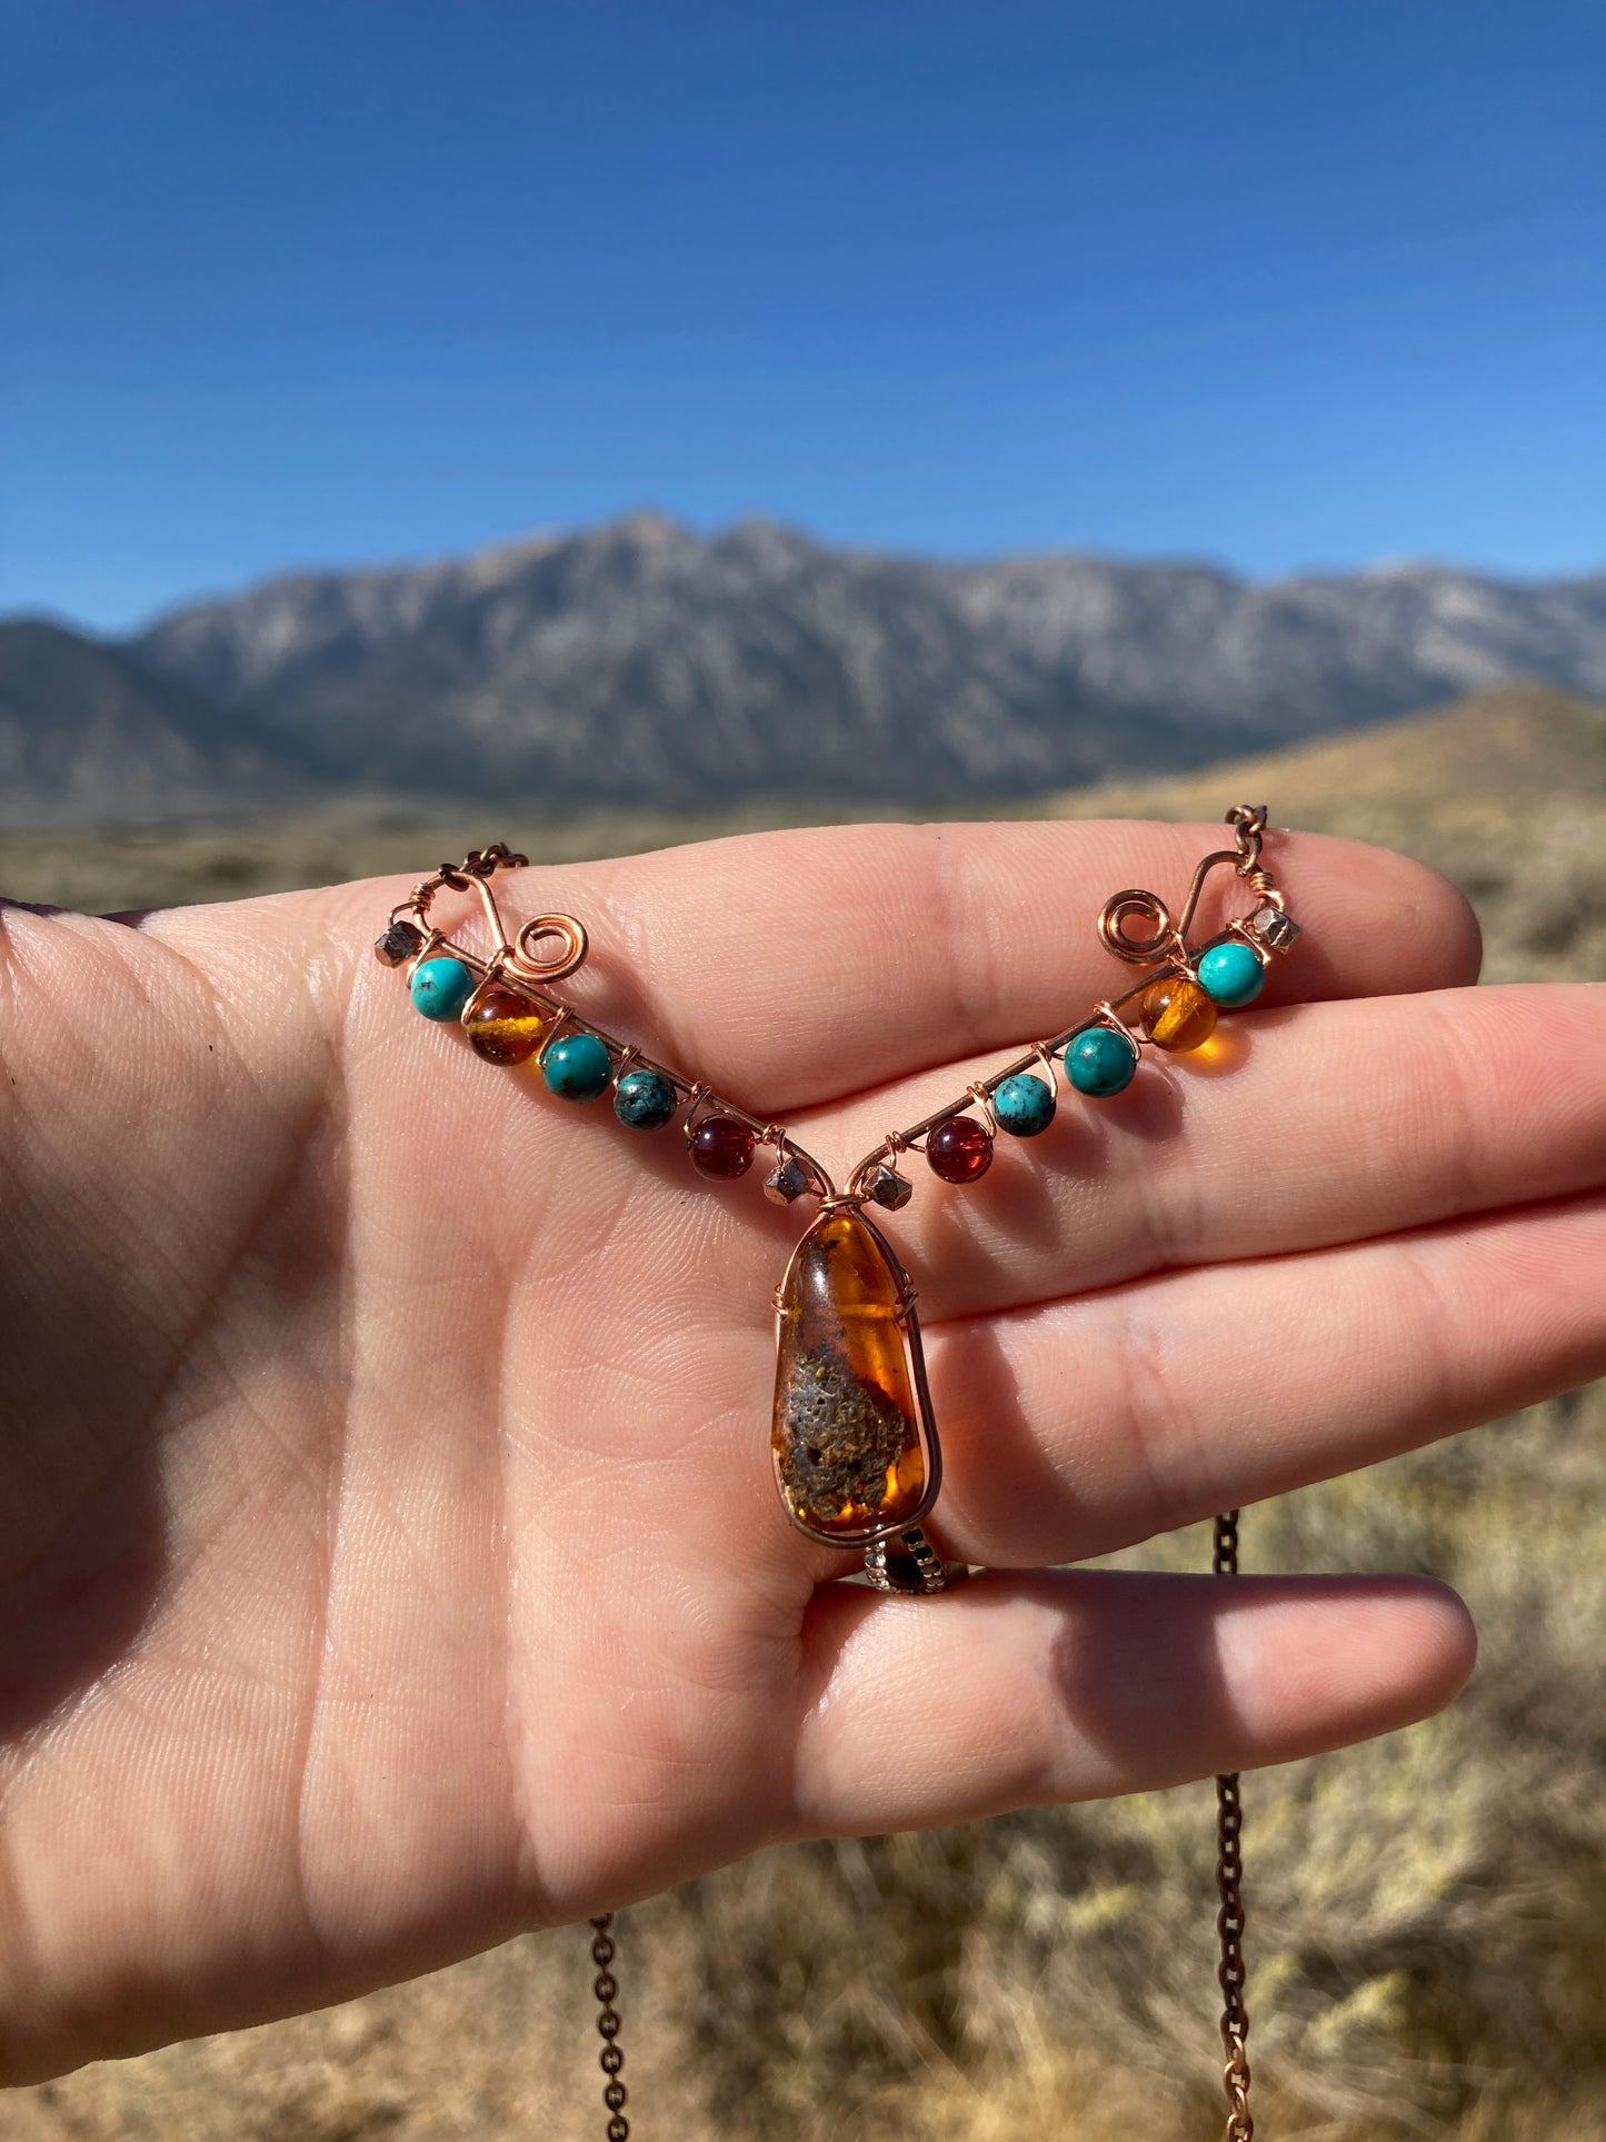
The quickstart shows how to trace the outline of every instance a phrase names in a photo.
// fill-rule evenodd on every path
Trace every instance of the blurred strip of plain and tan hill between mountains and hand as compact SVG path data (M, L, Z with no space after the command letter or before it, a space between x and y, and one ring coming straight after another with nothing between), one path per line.
M1497 897L1501 912L1510 902L1522 912L1559 902L1576 930L1593 927L1593 895L1574 887L1572 868L1591 846L1606 853L1606 709L1537 685L1473 694L1430 713L1186 775L1041 797L974 797L936 816L1208 820L1240 797L1270 803L1278 825L1422 853L1469 891ZM857 816L929 814L919 805L880 805ZM505 803L422 808L358 795L319 799L315 808L257 825L135 827L101 831L92 842L49 827L13 827L0 831L0 885L15 897L111 910L413 870L420 855L460 853L501 835L546 861L574 861L837 816L854 814L814 797L732 810L552 816ZM1552 927L1552 936L1561 932L1563 962L1574 949L1570 927L1561 921Z

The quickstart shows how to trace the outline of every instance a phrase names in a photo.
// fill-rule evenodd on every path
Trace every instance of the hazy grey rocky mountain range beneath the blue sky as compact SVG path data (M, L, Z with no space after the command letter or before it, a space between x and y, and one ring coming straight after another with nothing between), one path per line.
M634 514L296 572L126 640L0 623L0 823L336 788L704 805L1000 797L1180 769L1531 677L1606 698L1606 574L942 563Z

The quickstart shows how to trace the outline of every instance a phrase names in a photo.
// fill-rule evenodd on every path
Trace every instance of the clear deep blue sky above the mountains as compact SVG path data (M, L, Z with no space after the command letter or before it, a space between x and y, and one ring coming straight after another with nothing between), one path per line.
M1606 561L1597 0L0 0L0 606L638 503Z

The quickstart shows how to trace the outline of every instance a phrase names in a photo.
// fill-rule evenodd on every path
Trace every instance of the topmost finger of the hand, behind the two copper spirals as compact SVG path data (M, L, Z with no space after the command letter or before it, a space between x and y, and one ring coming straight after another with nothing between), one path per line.
M587 1017L782 1116L1073 1024L1137 979L1099 942L1105 900L1150 885L1180 908L1199 859L1229 844L1218 825L833 827L514 872L497 893L514 925L548 908L587 923L591 960L565 985ZM1478 925L1435 872L1313 833L1272 835L1266 855L1306 925L1274 964L1268 1002L1475 977ZM385 908L405 893L400 880L377 880L246 902L229 910L227 932L201 908L148 927L186 945L216 938L227 957L255 917L259 930L298 934L300 972L306 947L325 938L366 962ZM1248 900L1218 872L1199 932ZM465 895L441 895L439 919L482 940ZM340 985L351 985L349 966Z

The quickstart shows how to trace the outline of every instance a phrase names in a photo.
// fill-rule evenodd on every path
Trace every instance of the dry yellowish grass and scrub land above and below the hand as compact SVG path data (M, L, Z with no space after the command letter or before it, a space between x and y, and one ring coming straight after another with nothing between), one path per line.
M1473 897L1490 979L1606 977L1606 722L1546 692L1030 814L1218 816L1407 848ZM754 823L782 823L777 812ZM713 831L407 823L9 835L0 883L143 906ZM1606 1279L1606 1274L1604 1274ZM1246 1780L1259 2133L1606 2138L1606 1390L1251 1510L1253 1568L1433 1570L1482 1658L1443 1718ZM1208 1566L1199 1532L1122 1557ZM767 1853L621 1928L638 2142L1214 2138L1208 1786ZM13 2093L15 2142L445 2142L602 2133L576 1930L321 2016Z

